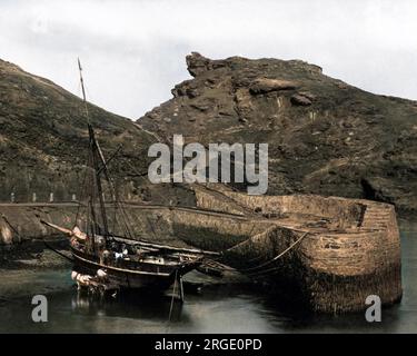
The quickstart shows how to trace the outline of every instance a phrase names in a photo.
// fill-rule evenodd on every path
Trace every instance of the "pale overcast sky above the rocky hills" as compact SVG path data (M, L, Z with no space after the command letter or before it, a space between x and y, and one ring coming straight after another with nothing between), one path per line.
M417 100L415 0L0 0L0 58L138 119L189 79L185 57L301 59Z

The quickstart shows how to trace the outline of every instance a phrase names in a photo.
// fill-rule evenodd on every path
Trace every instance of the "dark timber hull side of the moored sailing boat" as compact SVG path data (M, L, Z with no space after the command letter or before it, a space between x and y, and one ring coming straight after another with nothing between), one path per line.
M200 261L176 265L159 265L151 263L130 263L120 260L119 264L101 264L97 257L87 255L71 247L73 268L78 273L96 276L99 269L106 271L109 281L120 288L150 290L168 289L175 280L195 269ZM135 266L135 267L133 267ZM129 267L129 268L128 268Z

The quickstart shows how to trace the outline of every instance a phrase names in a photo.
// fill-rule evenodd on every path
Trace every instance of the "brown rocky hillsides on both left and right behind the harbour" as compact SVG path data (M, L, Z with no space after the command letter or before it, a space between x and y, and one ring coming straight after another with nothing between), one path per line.
M393 202L417 210L417 102L376 96L298 60L187 57L193 79L137 123L88 105L128 200L196 204L192 190L150 185L149 145L268 142L270 195L312 192ZM145 130L143 130L143 129ZM82 101L0 60L0 201L79 197L88 135ZM245 187L237 187L245 189ZM246 189L245 189L246 190Z

